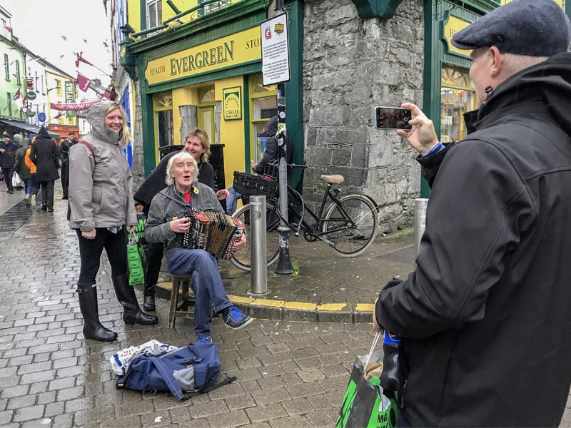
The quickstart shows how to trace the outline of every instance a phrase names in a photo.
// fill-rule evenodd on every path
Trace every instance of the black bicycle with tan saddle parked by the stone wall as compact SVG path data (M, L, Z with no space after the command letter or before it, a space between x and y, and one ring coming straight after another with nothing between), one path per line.
M305 165L290 165L294 168L305 168ZM321 175L327 186L317 213L305 205L303 197L288 185L288 213L281 213L278 203L278 192L266 195L266 243L268 266L279 257L280 220L299 236L303 230L303 238L308 242L320 240L326 243L334 253L343 258L351 258L362 254L373 243L378 229L378 205L373 198L361 193L341 195L341 189L333 187L345 180L343 175ZM277 186L276 186L277 187ZM325 206L329 201L329 204ZM305 213L313 218L312 223L305 220ZM240 218L245 225L246 234L250 234L250 204L236 210L233 217ZM246 248L234 253L233 263L243 270L251 269L251 243Z

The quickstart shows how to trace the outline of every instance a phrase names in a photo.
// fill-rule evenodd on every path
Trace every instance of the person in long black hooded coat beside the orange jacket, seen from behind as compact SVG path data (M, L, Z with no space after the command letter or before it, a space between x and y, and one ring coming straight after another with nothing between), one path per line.
M54 212L54 183L59 178L59 147L44 126L31 143L30 159L36 165L36 181L41 187L41 211Z

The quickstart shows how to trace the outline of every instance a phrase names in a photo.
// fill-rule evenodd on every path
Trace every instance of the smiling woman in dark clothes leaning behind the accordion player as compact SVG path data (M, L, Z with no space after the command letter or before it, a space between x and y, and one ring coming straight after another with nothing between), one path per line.
M209 188L215 189L214 185L214 168L208 159L210 158L210 140L205 131L199 128L192 128L184 136L184 147L182 151L191 153L198 165L198 180L201 183L208 185ZM166 166L168 161L171 160L176 153L169 153L164 156L161 161L156 165L151 175L143 182L140 188L136 191L135 200L143 205L143 213L148 214L151 207L151 201L155 195L166 188L165 178L167 177ZM228 190L221 189L216 192L218 200L228 198ZM148 243L147 247L147 270L145 275L145 287L143 292L143 309L155 310L155 287L158 281L158 275L161 272L161 264L163 260L163 244L162 243Z

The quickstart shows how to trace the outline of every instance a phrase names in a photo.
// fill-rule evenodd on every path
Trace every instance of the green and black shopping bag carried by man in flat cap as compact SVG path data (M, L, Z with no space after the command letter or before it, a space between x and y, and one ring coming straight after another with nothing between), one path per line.
M386 397L380 387L383 351L375 351L379 337L380 334L375 336L369 354L358 356L353 364L335 428L397 427L397 403Z

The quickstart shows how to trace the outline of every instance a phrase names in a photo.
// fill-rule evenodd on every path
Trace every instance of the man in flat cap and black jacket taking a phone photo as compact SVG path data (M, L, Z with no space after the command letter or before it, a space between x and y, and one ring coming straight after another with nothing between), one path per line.
M571 384L571 54L552 0L514 0L452 39L478 108L443 147L410 131L432 187L416 270L381 290L401 337L399 427L557 427Z

